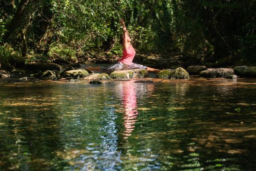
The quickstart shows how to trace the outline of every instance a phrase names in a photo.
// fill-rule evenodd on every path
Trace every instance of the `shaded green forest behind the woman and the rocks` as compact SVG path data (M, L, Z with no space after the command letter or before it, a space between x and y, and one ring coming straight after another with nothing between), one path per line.
M138 54L256 64L256 0L0 0L0 62L117 59L125 20ZM110 60L111 61L111 60Z

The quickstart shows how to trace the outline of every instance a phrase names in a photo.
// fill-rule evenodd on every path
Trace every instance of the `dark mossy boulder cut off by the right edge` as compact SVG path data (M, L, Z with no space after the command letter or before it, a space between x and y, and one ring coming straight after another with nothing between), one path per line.
M256 67L237 66L234 67L236 75L241 77L256 77Z

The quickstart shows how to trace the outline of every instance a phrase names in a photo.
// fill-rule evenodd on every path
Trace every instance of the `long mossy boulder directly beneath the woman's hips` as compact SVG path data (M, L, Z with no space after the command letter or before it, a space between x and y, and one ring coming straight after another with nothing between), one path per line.
M144 78L147 76L148 71L145 69L119 70L113 71L110 74L110 77L113 79Z

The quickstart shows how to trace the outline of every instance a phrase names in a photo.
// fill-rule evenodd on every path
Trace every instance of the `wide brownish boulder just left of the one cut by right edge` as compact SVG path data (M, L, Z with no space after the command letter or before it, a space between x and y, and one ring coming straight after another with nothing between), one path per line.
M209 68L200 72L200 76L205 78L225 78L227 75L233 74L232 68Z

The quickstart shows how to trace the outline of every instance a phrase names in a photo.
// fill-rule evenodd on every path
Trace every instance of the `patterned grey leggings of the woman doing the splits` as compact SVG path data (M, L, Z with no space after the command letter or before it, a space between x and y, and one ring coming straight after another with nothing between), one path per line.
M122 64L121 62L117 62L116 64L113 64L108 67L100 67L100 71L108 72L108 73L111 73L113 71L118 71L118 70L134 70L134 69L147 69L147 67L140 64L135 64L135 63L131 63L131 65L127 65L127 64Z

